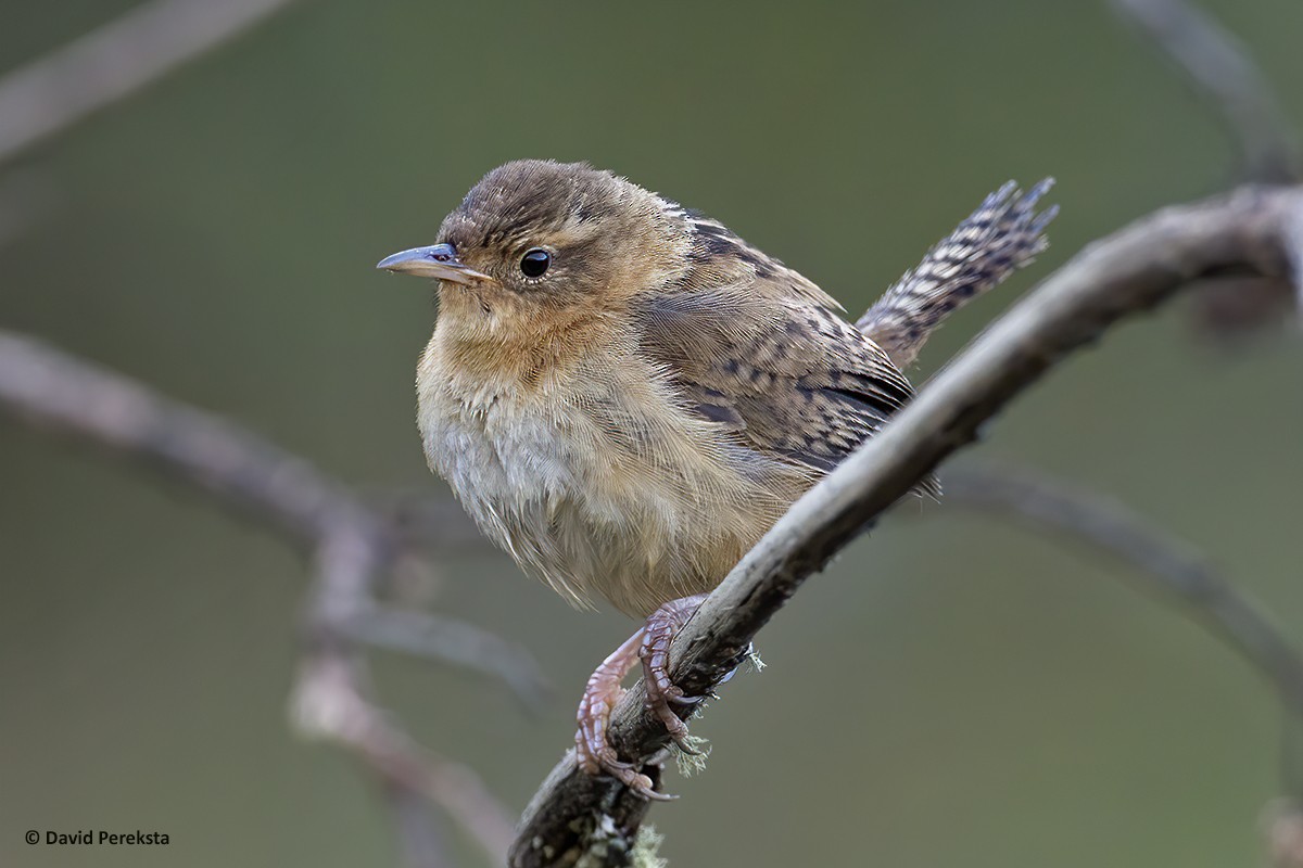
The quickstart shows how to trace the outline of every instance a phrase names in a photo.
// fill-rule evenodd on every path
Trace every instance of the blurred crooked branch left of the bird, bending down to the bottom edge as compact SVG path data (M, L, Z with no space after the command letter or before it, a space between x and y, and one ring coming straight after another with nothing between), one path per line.
M396 791L405 806L401 822L410 834L417 834L410 829L416 815L407 802L418 795L446 809L502 861L511 835L506 811L468 769L416 747L370 698L356 631L378 610L375 583L392 566L400 545L400 534L382 515L306 461L229 422L7 332L0 332L0 410L149 459L219 502L266 519L309 550L315 573L293 701L300 730L357 752ZM523 664L523 652L507 651L502 640L494 645L466 625L430 623L455 635L438 642L423 635L426 656L469 664L537 696L537 668ZM461 648L459 640L472 647ZM476 658L485 648L496 655L491 661Z

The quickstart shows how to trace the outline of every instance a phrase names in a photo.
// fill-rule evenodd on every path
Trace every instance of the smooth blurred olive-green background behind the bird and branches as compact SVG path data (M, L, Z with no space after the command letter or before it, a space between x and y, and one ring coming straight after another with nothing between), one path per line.
M1201 5L1303 118L1303 5ZM0 68L129 7L8 0ZM1216 122L1104 3L301 0L26 155L57 207L0 249L0 324L367 491L446 496L412 420L430 293L371 267L521 156L701 208L852 311L986 191L1054 174L1052 249L956 316L920 377L1089 239L1234 178ZM1187 320L1118 329L973 455L1115 493L1303 640L1303 345L1226 353ZM371 781L287 725L306 574L280 539L9 419L0 480L0 864L395 864ZM709 769L671 774L683 799L654 811L672 864L1259 864L1281 726L1256 674L1111 563L919 511L809 583L762 634L766 671L696 725ZM519 809L633 625L494 552L442 576L440 610L519 639L556 700L530 718L384 656L378 688ZM27 847L29 828L172 843Z

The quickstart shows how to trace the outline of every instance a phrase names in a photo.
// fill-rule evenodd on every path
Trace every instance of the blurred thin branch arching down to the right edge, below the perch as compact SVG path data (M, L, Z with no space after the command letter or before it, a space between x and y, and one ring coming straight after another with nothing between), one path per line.
M1151 527L1121 502L1012 467L962 467L945 475L946 505L994 510L1058 531L1136 567L1135 579L1181 604L1303 713L1303 657L1267 612L1188 544Z

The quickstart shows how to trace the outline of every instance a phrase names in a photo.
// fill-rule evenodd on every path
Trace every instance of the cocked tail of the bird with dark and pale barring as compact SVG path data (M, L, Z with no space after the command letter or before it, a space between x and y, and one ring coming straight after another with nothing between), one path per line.
M992 193L855 325L904 370L950 311L998 286L1045 250L1042 233L1058 206L1037 213L1036 204L1053 183L1045 178L1024 194L1010 181Z

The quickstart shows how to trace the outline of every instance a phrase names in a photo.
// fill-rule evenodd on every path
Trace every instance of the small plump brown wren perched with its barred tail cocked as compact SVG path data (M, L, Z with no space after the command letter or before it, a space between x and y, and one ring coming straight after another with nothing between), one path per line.
M1044 249L1048 186L989 197L856 325L722 224L586 164L502 165L434 246L379 263L439 281L417 368L430 467L526 573L646 619L589 679L581 768L655 795L606 739L622 679L641 658L691 750L674 631L909 400L902 370L942 318Z

